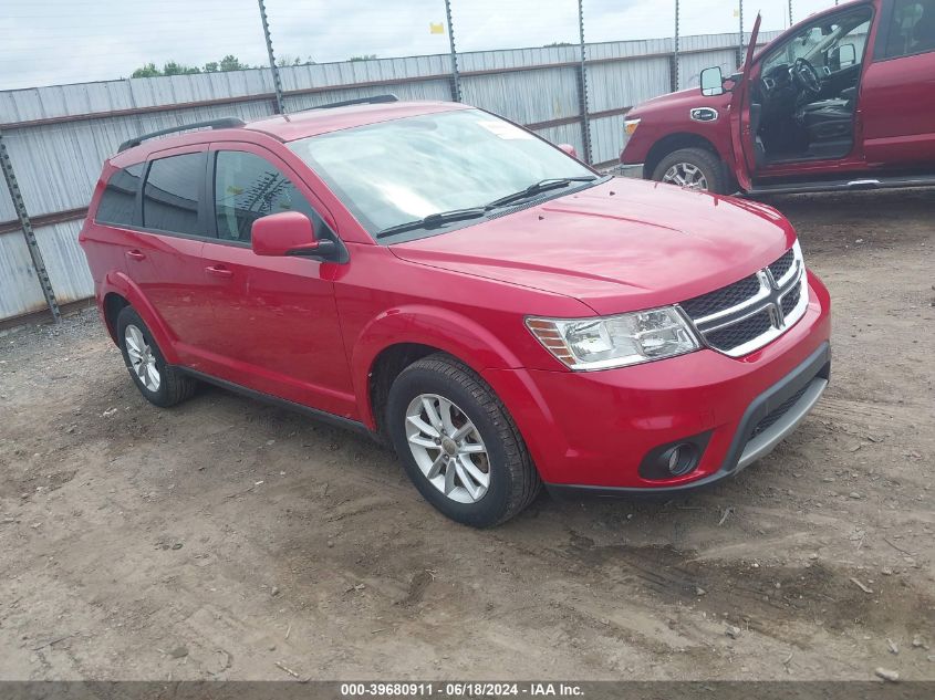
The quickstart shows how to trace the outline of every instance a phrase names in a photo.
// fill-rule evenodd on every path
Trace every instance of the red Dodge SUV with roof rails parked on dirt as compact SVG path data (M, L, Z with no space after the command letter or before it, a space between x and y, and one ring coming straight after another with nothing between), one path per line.
M717 481L818 400L830 300L773 209L393 100L189 125L105 164L81 243L149 401L205 380L368 432L484 526L542 482Z

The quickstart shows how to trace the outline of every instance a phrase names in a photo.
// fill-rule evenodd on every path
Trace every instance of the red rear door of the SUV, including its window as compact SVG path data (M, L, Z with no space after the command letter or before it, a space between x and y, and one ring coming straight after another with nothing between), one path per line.
M181 361L210 370L214 316L205 303L207 145L153 154L141 192L141 230L124 241L126 273L162 317Z

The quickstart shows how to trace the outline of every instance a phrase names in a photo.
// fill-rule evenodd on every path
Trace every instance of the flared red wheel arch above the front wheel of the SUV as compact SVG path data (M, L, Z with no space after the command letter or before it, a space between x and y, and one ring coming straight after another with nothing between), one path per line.
M370 397L370 375L377 356L393 345L436 347L481 374L485 369L520 367L516 354L481 324L451 310L422 304L389 309L367 323L349 343L351 375L361 418L376 428Z

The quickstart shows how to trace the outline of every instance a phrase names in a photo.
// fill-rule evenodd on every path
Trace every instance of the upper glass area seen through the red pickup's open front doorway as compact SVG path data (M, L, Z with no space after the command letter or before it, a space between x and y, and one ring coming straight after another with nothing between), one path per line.
M872 12L861 8L844 14L823 18L806 25L763 61L763 75L780 65L792 65L804 59L828 73L860 63L866 45Z

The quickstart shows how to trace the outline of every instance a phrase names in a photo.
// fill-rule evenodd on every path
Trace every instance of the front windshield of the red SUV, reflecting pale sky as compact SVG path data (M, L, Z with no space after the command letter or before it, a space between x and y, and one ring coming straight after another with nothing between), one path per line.
M594 177L565 153L479 109L359 126L289 147L374 236L429 215L484 207L540 180Z

